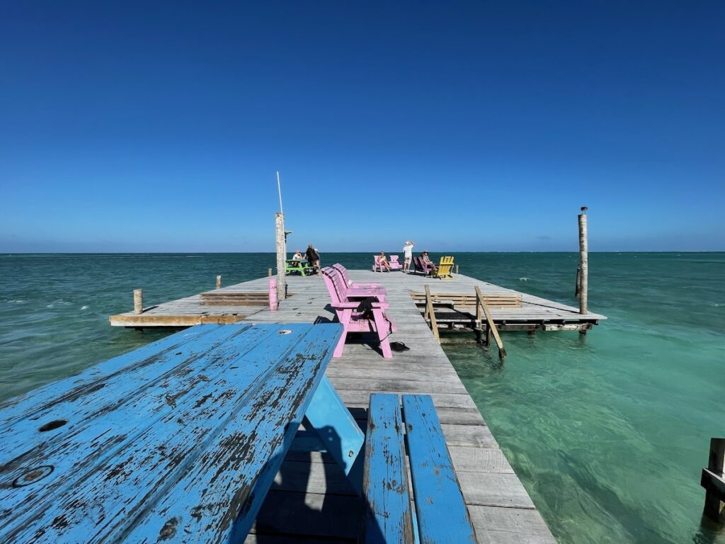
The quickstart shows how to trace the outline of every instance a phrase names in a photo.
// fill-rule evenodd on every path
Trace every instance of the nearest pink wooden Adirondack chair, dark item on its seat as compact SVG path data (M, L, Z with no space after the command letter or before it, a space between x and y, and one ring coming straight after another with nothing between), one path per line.
M339 342L337 342L332 356L334 358L342 357L345 340L347 339L347 334L350 332L374 332L378 335L383 357L392 359L393 353L390 350L388 335L397 329L384 312L384 310L389 308L389 304L387 302L373 302L373 318L363 317L363 313L357 311L357 306L360 304L360 301L349 300L344 279L342 279L342 276L334 268L323 268L322 277L325 281L327 291L330 294L331 306L334 308L337 319L343 329L342 336Z

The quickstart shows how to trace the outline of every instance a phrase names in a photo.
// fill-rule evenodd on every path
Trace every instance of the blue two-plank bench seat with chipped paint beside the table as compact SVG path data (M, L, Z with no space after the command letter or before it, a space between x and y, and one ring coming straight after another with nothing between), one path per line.
M370 395L363 490L367 511L360 542L475 543L476 533L428 395ZM405 469L410 460L415 511Z

